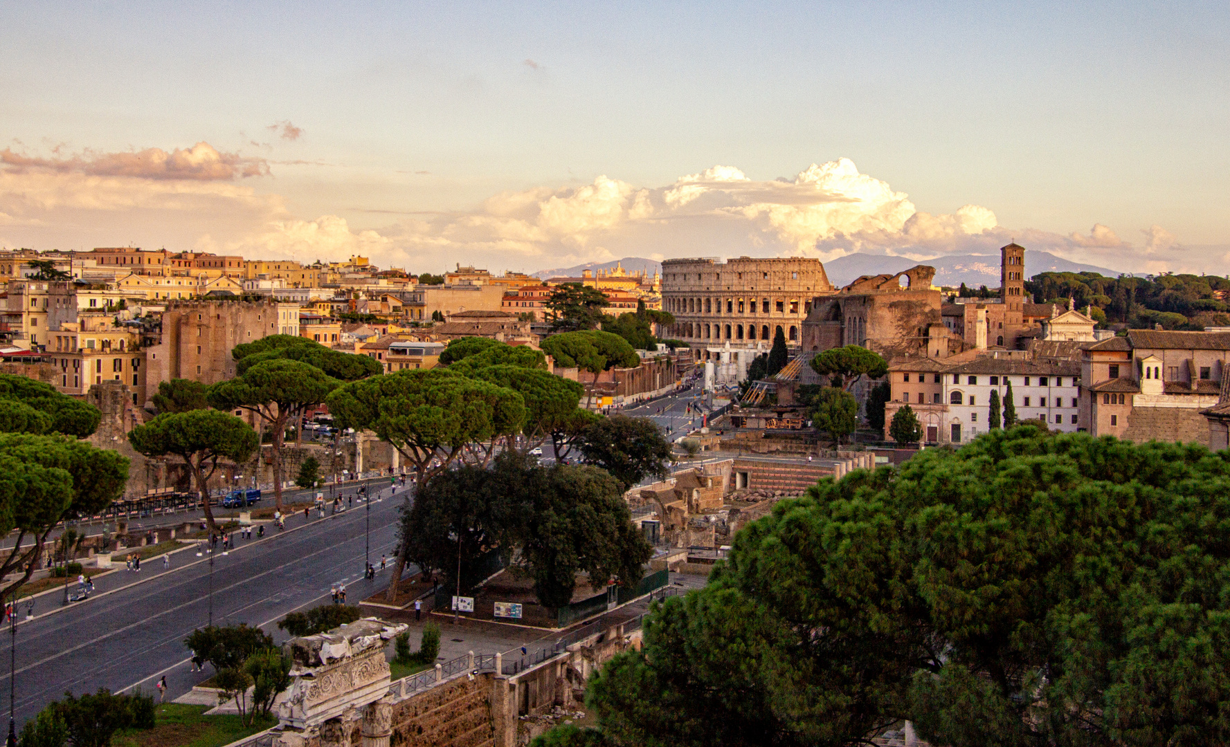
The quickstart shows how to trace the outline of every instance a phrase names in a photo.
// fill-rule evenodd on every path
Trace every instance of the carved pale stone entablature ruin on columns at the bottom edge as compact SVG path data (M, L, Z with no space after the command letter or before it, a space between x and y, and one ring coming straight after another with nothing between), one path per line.
M385 646L406 625L363 618L293 638L290 687L278 695L277 747L389 747L392 699Z

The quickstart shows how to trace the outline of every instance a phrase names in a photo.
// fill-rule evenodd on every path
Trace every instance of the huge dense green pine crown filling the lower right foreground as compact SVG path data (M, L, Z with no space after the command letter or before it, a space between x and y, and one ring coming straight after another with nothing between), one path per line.
M1230 741L1230 461L994 430L824 479L658 606L589 706L614 745Z

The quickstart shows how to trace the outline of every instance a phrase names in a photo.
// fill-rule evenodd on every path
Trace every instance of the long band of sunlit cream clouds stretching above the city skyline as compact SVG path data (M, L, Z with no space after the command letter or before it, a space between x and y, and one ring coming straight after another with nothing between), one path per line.
M47 158L0 151L0 225L23 246L44 248L146 236L153 238L145 243L169 248L305 262L365 254L384 267L437 272L454 262L533 272L629 256L807 256L828 262L863 252L925 260L991 254L1014 240L1076 262L1157 272L1164 259L1175 263L1182 248L1160 226L1143 230L1144 249L1133 251L1102 224L1087 233L1053 233L1000 226L994 211L977 204L952 213L919 210L908 194L860 172L849 158L772 179L752 178L728 165L657 187L599 176L499 192L472 209L449 213L359 205L347 208L348 222L333 214L309 220L294 215L280 195L258 194L247 187L253 182L237 179L253 165L236 154L204 143L154 151ZM267 172L264 161L255 166ZM396 222L352 225L360 215Z

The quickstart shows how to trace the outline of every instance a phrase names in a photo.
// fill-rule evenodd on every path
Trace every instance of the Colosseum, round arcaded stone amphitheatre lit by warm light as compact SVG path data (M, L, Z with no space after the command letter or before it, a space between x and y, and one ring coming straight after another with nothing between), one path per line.
M667 259L662 308L669 337L692 348L769 350L779 329L798 346L812 300L833 292L819 259Z

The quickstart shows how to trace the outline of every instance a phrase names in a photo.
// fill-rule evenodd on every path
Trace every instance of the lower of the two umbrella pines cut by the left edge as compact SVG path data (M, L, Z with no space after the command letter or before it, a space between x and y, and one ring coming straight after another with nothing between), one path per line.
M92 516L118 500L128 458L60 435L0 434L0 600L11 601L30 580L52 530Z

